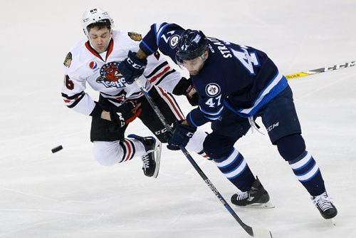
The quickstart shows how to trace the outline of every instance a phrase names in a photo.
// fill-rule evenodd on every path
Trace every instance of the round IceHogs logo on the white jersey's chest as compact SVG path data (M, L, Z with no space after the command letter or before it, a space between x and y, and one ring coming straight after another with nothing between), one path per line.
M100 68L100 77L96 79L98 83L103 83L106 88L124 88L125 78L122 78L122 73L120 73L117 66L120 62L110 62L105 63Z

